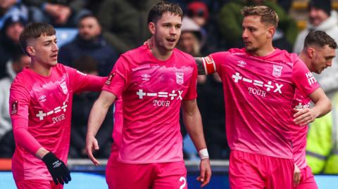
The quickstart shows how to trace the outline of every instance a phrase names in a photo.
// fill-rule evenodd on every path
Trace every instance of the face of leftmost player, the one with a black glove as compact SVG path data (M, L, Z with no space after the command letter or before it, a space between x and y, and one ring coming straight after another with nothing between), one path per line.
M46 67L52 67L58 63L58 46L55 35L41 34L37 39L32 39L28 45L32 48L28 52L35 62Z

